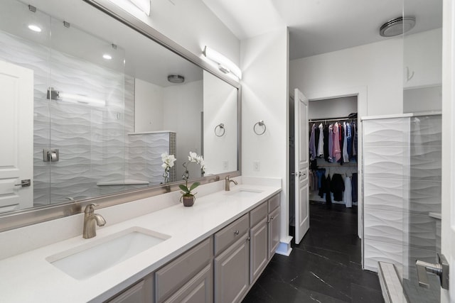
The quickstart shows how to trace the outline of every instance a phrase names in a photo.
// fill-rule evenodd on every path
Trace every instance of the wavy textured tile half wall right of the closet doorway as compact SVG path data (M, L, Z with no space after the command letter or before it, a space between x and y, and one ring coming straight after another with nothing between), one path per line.
M440 246L441 117L363 121L364 264L403 265L413 278L418 257L431 259ZM413 259L414 258L414 259Z

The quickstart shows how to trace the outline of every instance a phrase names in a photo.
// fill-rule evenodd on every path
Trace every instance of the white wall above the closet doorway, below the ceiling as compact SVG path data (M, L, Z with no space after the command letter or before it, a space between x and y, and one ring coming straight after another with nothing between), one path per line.
M395 38L289 62L289 87L304 94L367 87L365 114L402 113L402 39Z

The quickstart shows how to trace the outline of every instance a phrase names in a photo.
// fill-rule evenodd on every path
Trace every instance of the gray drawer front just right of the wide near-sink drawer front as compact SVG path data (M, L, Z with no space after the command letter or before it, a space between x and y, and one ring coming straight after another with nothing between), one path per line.
M215 233L215 255L221 253L248 231L250 215L245 214L222 230Z

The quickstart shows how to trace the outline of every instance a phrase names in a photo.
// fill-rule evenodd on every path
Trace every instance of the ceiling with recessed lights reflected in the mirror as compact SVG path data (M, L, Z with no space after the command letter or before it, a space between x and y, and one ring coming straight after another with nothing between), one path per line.
M161 87L178 85L168 82L168 75L183 75L186 83L203 79L201 67L84 1L73 1L72 4L65 5L62 1L59 7L54 7L58 13L50 16L41 11L41 6L37 7L36 13L31 13L28 5L21 1L1 0L0 31ZM60 18L70 26L65 27ZM29 23L38 24L41 33L30 31ZM112 44L117 48L112 48ZM103 59L105 53L112 55L112 60ZM52 52L50 55L54 56Z

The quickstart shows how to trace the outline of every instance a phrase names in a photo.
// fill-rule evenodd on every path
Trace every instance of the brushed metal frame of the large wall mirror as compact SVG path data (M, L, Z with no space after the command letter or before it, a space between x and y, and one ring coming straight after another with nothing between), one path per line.
M237 89L237 170L232 172L223 172L220 174L210 175L206 177L200 177L197 180L200 184L207 184L210 182L216 182L223 180L226 176L237 177L242 175L241 165L241 150L242 150L242 87L240 82L235 81L231 77L223 74L217 68L210 65L208 62L205 62L201 57L191 53L186 48L183 48L178 43L167 38L159 31L156 31L151 26L140 21L138 18L127 13L123 9L120 9L119 6L116 6L109 0L81 0L85 1L87 4L94 6L96 9L107 13L108 16L116 19L117 21L123 23L124 25L132 28L134 31L145 35L147 38L154 40L159 45L164 46L168 50L171 50L173 53L180 55L181 57L193 62L193 64L198 65L203 70L210 72L212 75L222 79L228 84L232 85ZM202 50L201 50L202 53ZM138 199L144 199L147 197L154 197L159 194L166 194L168 192L176 192L180 190L178 188L179 184L183 184L183 180L179 182L173 182L166 185L156 185L151 187L144 187L141 189L129 189L123 192L117 192L114 194L107 194L98 197L92 197L89 199L83 199L75 202L63 202L58 204L50 204L45 206L32 207L30 209L22 209L18 211L11 211L4 214L0 214L0 232L9 231L14 228L20 228L23 226L29 226L33 224L38 224L45 221L50 221L54 219L63 218L65 216L73 216L75 214L82 213L82 209L89 203L97 203L100 205L100 208L114 206L117 204L132 202Z

